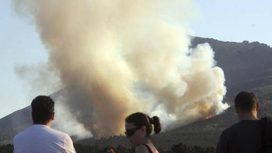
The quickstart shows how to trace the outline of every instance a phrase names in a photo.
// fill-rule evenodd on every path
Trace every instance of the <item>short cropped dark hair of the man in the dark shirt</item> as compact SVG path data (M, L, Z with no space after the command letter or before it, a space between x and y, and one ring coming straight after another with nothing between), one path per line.
M251 112L257 103L256 96L251 91L242 91L235 97L235 107L241 111Z

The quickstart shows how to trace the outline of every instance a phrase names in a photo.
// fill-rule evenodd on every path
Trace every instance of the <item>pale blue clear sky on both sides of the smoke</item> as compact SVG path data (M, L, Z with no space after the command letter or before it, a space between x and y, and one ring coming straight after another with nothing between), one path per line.
M195 0L201 15L190 24L192 36L222 41L259 41L272 47L272 1ZM35 26L20 18L11 0L0 1L0 118L28 106L35 95L14 66L46 62L47 51ZM52 91L52 93L55 91Z

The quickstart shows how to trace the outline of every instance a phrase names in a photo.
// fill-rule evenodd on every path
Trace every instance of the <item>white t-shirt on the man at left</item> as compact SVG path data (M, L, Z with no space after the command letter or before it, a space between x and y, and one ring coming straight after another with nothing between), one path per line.
M75 153L68 134L35 124L13 139L14 153Z

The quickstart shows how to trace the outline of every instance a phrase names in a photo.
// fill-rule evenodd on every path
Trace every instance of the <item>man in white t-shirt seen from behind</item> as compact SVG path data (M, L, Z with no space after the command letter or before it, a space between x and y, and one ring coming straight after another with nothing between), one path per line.
M50 128L55 115L54 104L49 96L37 96L32 100L33 125L14 137L14 153L75 153L69 135Z

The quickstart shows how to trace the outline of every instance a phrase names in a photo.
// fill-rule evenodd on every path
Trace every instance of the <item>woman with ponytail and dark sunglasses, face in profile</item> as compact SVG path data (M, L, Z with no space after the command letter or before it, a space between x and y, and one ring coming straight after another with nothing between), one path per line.
M144 113L134 113L125 119L125 135L129 139L132 147L135 147L135 153L159 153L150 140L152 132L158 134L161 130L159 117L150 118ZM111 149L109 153L114 153Z

